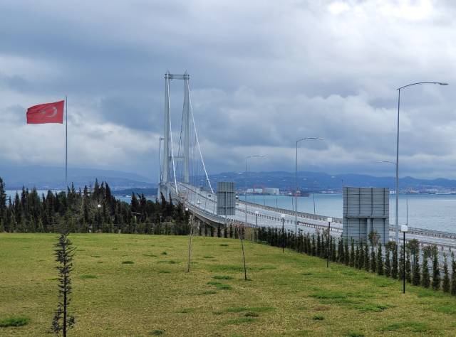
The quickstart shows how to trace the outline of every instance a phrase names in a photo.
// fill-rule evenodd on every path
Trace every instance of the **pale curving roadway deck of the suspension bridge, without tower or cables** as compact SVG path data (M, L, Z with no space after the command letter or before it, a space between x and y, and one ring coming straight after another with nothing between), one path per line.
M171 187L171 186L170 186ZM192 213L197 215L201 220L205 220L211 224L224 224L225 217L217 215L217 200L213 193L207 191L200 191L195 186L177 183L179 190L179 198L185 203L185 206L189 208ZM174 188L169 188L170 191L174 191ZM175 196L175 192L172 192ZM227 216L226 223L245 222L245 203L243 200L237 200L236 203L236 215ZM294 211L286 210L283 208L274 208L271 206L259 205L256 203L247 202L247 224L254 226L256 225L257 216L255 212L258 211L258 225L281 228L281 214L285 215L284 228L286 230L293 230L295 228L295 215ZM328 222L326 216L314 215L309 213L298 212L298 228L304 233L309 232L310 234L316 232L316 230L323 230L328 228ZM445 251L456 250L456 233L440 232L435 230L425 230L421 228L409 227L410 232L407 234L407 240L418 239L423 245L435 244L440 249ZM342 219L333 218L331 223L331 236L340 237L342 233ZM393 226L390 225L390 239L394 240L395 232Z

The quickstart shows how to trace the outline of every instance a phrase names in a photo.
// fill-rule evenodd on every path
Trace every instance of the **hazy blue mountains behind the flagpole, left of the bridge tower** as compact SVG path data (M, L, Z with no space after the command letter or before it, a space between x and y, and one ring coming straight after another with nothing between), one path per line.
M65 169L53 166L0 166L0 177L3 178L6 189L15 190L26 186L40 190L61 189L65 186ZM151 178L135 173L68 168L68 184L74 183L76 188L90 186L98 181L107 181L113 190L131 188L152 188L157 184Z

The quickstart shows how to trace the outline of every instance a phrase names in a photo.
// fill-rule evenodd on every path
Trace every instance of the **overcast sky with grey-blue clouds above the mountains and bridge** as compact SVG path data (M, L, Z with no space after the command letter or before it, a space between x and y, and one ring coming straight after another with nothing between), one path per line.
M456 178L453 1L0 1L0 164L63 166L64 127L26 108L68 95L69 166L157 176L164 79L190 73L209 173ZM182 81L171 87L175 132Z

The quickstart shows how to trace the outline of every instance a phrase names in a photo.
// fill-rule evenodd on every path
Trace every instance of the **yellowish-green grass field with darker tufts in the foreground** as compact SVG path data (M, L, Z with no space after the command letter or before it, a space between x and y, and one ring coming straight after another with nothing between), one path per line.
M456 298L239 240L70 235L76 245L70 336L456 336ZM56 235L0 234L0 336L49 335Z

